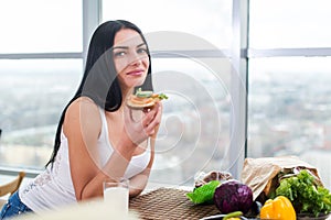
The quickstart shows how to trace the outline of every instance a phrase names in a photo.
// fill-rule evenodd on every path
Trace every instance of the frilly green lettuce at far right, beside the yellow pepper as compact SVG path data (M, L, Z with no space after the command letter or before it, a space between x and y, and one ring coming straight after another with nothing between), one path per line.
M331 212L331 194L329 189L319 186L314 177L306 169L300 170L297 176L285 178L276 189L276 196L289 198L297 213Z

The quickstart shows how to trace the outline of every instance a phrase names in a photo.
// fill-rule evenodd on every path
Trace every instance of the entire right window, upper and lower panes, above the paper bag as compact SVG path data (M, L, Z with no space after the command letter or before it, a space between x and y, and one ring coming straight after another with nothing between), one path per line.
M247 155L297 155L331 187L325 0L250 1Z

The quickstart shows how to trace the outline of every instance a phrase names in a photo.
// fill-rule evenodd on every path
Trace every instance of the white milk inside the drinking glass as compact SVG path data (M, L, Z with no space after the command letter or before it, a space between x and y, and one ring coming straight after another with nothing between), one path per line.
M129 189L125 187L108 187L104 190L104 200L111 210L118 213L128 215Z

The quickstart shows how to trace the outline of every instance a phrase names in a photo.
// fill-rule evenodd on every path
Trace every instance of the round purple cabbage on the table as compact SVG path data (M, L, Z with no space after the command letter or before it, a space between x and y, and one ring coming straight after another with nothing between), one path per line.
M222 213L233 211L247 213L253 206L253 191L247 185L231 179L215 189L213 199Z

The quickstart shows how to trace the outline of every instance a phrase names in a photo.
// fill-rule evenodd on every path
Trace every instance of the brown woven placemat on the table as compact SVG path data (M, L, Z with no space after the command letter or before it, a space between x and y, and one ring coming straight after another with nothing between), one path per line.
M159 188L130 199L139 219L201 219L220 213L215 205L194 205L182 189Z

